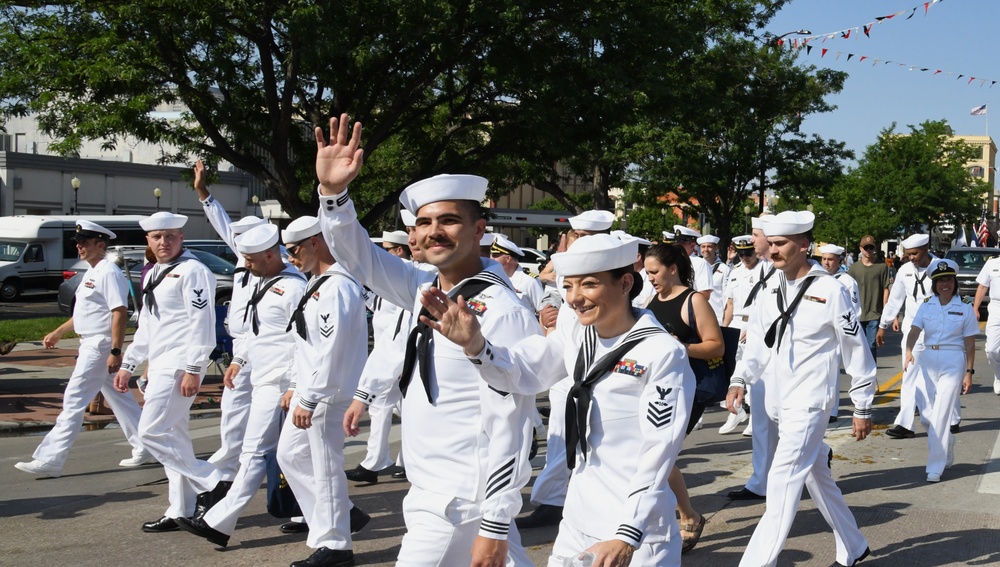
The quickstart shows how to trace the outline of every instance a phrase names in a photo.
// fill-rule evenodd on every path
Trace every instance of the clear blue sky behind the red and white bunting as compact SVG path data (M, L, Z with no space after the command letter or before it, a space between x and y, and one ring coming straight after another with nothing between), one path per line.
M969 112L989 103L990 135L1000 140L1000 33L996 31L1000 2L941 0L927 15L923 4L923 0L794 0L778 13L767 27L771 33L804 28L820 35L860 28L877 16L918 7L910 20L905 20L907 12L876 24L870 38L852 31L849 39L811 41L811 54L801 50L800 64L849 75L844 90L828 99L837 109L808 118L804 131L846 142L861 157L879 131L893 122L897 131L906 132L907 125L945 119L957 134L986 134L987 117ZM829 52L820 58L822 48ZM850 61L848 53L854 54ZM862 55L868 56L864 62L859 61ZM873 66L874 59L893 63ZM931 71L910 71L910 66ZM937 69L943 72L932 75ZM949 71L955 74L947 76ZM958 74L965 77L956 79ZM976 77L972 84L969 76ZM979 86L980 78L987 79L986 86ZM992 80L997 84L990 88Z

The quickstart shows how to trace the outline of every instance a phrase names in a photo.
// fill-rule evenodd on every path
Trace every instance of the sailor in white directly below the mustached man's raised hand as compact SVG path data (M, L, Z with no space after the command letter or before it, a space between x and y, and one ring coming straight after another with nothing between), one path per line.
M293 221L282 240L313 274L288 326L296 348L294 396L278 443L278 462L314 550L292 565L353 565L351 534L370 518L347 494L342 423L368 352L362 286L334 260L316 217Z

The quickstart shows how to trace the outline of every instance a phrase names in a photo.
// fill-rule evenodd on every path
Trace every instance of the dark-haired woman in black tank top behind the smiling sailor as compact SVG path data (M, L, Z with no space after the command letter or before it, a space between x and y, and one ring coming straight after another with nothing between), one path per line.
M653 312L663 328L687 346L689 358L711 360L722 356L725 345L722 330L715 318L715 311L704 295L691 289L694 269L687 252L680 246L657 244L646 252L646 274L656 295L650 298L646 309ZM688 308L690 303L691 309ZM694 312L697 328L691 327L688 314ZM691 407L687 432L701 419L705 406L694 402ZM684 543L681 552L694 548L705 527L705 517L691 506L687 485L681 471L675 465L670 471L670 489L677 497L677 512L680 515L681 537Z

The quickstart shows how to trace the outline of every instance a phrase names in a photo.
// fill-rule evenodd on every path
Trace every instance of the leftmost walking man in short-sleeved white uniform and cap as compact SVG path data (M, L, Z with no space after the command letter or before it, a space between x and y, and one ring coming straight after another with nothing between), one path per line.
M132 457L120 463L137 467L156 462L142 447L138 425L142 410L131 393L114 388L114 373L122 361L125 322L128 320L128 282L121 269L108 258L108 242L115 233L87 220L77 221L76 251L90 265L76 288L73 316L42 339L45 348L56 348L64 334L80 335L80 352L73 374L63 393L63 407L56 424L35 449L31 461L15 464L32 474L58 477L62 474L69 450L80 433L87 404L100 392L115 412L125 439L132 446Z

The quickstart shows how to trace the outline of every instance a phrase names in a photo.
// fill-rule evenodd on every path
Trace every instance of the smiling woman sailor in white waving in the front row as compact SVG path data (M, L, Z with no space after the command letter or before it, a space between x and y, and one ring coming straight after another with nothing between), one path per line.
M639 290L636 254L634 240L604 234L555 254L576 317L509 348L485 340L461 298L424 294L437 319L424 322L462 346L491 387L534 394L574 378L566 405L573 475L549 567L585 550L596 555L595 566L680 565L677 520L663 510L676 506L667 477L695 380L684 347L650 313L631 307Z

